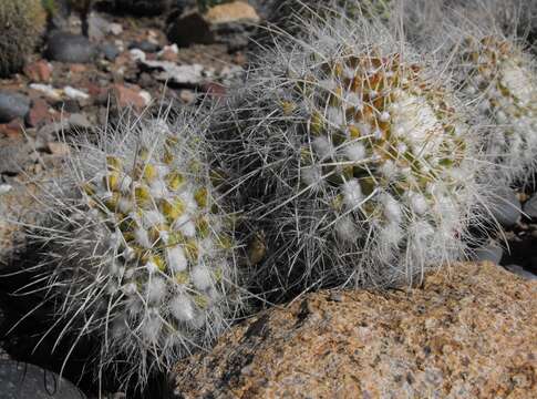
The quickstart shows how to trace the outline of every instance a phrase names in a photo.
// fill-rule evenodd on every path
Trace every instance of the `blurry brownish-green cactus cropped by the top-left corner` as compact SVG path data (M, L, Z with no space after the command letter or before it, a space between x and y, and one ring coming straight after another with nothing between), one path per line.
M41 0L2 0L0 2L0 78L22 70L25 58L40 41L47 23Z

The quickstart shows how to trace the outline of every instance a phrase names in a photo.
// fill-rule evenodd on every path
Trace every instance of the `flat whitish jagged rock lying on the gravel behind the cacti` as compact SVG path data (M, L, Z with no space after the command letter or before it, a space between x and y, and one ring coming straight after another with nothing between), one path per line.
M158 71L155 78L163 82L173 82L183 85L200 84L205 80L205 68L202 64L177 65L169 61L145 61L141 64L149 71Z

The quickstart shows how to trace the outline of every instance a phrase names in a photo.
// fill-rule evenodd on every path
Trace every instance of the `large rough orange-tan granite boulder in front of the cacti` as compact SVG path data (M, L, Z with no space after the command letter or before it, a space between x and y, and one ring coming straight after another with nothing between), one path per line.
M463 264L409 290L322 291L175 370L184 398L537 398L537 284Z

